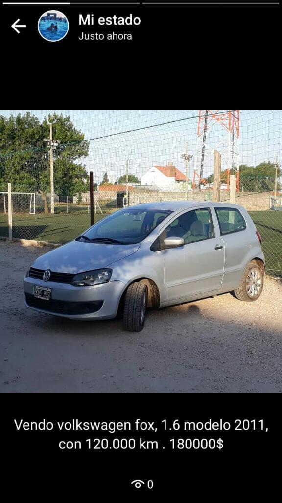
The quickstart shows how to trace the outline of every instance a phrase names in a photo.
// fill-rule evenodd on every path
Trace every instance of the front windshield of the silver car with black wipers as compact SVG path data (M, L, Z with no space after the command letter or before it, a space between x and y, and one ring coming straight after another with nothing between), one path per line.
M103 218L77 239L106 244L138 243L143 241L170 213L169 210L124 208Z

